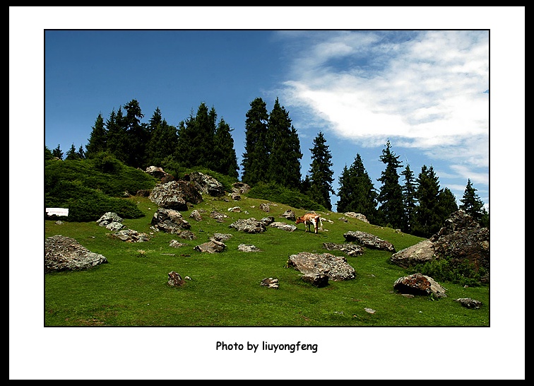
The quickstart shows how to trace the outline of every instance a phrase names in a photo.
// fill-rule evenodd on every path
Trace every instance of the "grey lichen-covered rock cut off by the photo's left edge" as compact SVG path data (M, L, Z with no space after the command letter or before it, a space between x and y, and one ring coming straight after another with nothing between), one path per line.
M45 274L79 271L107 263L107 258L90 252L78 241L62 235L45 240Z

